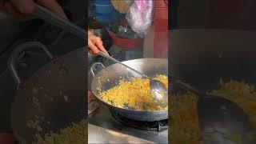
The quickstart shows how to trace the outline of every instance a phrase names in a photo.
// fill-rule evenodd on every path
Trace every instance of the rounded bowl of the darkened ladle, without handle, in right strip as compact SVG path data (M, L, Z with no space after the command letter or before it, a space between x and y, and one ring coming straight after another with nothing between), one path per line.
M254 131L251 129L253 125L247 117L248 115L234 102L219 98L198 100L198 121L205 144L226 144L230 143L226 142L229 138L231 143L254 144ZM240 142L232 137L240 139Z

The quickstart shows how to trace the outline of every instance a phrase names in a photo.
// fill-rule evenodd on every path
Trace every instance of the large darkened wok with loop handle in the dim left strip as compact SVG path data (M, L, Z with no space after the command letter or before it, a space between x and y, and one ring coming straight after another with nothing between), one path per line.
M15 57L22 51L31 48L41 48L49 56L50 52L38 42L32 42L18 47L10 58L10 68L18 83L18 92L14 98L11 110L11 125L14 135L21 143L36 141L35 134L58 132L71 122L79 122L86 118L85 48L74 50L62 58L55 58L42 66L25 82L19 78L16 71ZM31 44L31 43L30 43ZM27 124L38 120L42 130L30 128Z

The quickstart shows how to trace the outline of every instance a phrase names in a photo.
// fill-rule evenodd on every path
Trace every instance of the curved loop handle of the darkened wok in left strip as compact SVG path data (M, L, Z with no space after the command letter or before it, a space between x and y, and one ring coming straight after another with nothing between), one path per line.
M22 43L21 45L17 46L10 56L8 65L10 67L10 72L13 75L15 82L17 82L18 89L22 85L22 80L19 77L17 70L15 69L15 66L18 65L16 59L25 50L33 49L33 48L42 49L46 53L46 55L50 58L50 60L54 58L54 56L50 53L50 51L46 48L46 46L44 46L41 42L25 42L25 43Z

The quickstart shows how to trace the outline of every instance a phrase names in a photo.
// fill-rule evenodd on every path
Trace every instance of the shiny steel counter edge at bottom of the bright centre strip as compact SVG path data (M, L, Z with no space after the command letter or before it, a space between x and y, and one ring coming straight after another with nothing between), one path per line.
M136 138L127 134L122 134L114 130L107 130L99 126L88 124L88 143L146 143L142 138Z

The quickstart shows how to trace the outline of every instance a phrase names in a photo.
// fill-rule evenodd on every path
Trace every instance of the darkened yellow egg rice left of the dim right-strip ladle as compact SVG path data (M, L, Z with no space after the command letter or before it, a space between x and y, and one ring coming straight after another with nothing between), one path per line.
M190 92L171 95L168 122L170 143L203 144L197 102L198 96Z

